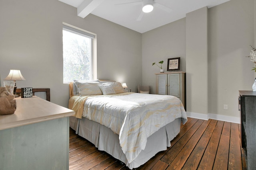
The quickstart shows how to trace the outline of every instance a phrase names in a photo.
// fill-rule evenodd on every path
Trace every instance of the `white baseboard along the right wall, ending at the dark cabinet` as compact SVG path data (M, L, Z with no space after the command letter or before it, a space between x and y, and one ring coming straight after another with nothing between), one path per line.
M225 116L225 115L217 115L217 114L212 114L208 113L206 114L201 114L201 113L192 113L192 112L186 112L188 117L191 118L196 118L196 119L203 119L203 120L208 120L208 119L215 119L219 121L227 121L231 123L239 123L240 124L240 117L232 117L232 116Z

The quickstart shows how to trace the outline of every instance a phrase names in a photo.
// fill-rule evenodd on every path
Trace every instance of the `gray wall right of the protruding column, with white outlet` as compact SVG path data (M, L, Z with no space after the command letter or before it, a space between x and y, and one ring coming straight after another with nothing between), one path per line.
M209 113L239 117L238 90L252 90L255 0L209 9ZM223 109L227 104L228 110Z

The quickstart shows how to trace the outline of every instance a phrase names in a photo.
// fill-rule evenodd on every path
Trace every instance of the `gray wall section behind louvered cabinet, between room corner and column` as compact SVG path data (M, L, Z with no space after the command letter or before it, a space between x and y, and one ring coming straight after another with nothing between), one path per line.
M156 75L160 68L152 63L180 57L180 71L186 72L186 19L182 18L142 34L142 84L150 85L150 93L156 93Z

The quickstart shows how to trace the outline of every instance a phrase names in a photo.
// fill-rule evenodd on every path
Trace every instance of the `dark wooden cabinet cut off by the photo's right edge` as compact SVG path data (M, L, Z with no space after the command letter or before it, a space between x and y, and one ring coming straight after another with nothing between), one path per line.
M248 170L256 169L256 92L239 91L241 144Z

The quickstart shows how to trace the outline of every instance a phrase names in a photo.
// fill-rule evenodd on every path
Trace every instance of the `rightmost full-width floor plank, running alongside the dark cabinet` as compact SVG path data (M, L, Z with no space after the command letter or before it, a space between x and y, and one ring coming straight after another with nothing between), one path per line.
M231 133L230 133L230 154L228 157L228 170L241 170L242 169L242 159L241 159L241 148L238 124L231 123Z

